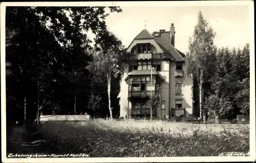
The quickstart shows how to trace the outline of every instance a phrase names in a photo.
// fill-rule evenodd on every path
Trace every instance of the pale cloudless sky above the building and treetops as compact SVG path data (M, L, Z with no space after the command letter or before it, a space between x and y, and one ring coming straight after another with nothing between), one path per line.
M121 9L121 13L111 13L106 18L106 25L125 46L129 46L145 25L153 33L160 29L169 31L173 23L175 48L185 53L200 10L216 32L215 44L218 48L243 48L250 42L248 6L121 6Z

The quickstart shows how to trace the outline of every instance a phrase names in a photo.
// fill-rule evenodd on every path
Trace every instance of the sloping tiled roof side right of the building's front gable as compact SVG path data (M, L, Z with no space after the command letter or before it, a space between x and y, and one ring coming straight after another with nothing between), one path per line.
M183 53L174 48L172 44L170 44L170 32L161 32L159 36L156 34L159 32L154 32L152 35L154 39L160 44L167 56L172 56L175 61L184 61Z

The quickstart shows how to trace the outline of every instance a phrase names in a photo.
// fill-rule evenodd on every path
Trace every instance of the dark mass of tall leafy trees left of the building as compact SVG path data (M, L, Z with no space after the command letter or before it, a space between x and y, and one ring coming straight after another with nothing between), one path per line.
M39 106L58 114L109 114L106 84L87 68L90 50L122 51L121 41L109 32L105 17L119 7L7 7L6 108L12 123L34 120ZM95 34L95 45L87 32ZM120 75L111 81L113 115L119 114ZM117 82L116 82L117 81ZM101 110L88 109L91 95L100 97ZM95 99L95 98L93 98Z

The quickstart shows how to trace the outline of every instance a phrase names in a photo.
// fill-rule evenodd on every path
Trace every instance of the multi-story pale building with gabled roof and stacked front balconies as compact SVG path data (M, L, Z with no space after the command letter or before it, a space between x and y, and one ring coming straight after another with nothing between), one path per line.
M120 82L120 117L150 116L147 100L159 94L153 117L188 117L193 111L193 78L184 73L185 55L175 48L175 27L150 34L142 30L127 47L129 66ZM153 69L151 69L154 67Z

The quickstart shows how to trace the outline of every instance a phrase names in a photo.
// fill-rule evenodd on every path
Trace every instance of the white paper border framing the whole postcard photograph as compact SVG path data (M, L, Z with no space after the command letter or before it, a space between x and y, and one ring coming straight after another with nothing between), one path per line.
M6 6L249 6L250 16L250 156L248 157L116 157L116 158L6 158L5 9ZM3 162L207 162L255 161L255 77L253 1L176 1L176 2L10 2L1 3L1 110Z

